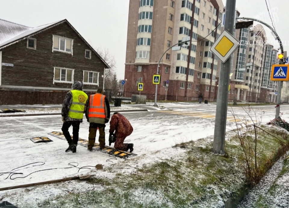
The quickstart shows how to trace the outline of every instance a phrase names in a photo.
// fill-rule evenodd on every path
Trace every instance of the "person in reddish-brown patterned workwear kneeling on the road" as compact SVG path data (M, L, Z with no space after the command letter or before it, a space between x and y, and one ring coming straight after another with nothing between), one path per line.
M109 136L113 135L115 131L115 143L114 148L128 151L133 151L133 144L132 143L123 143L125 138L132 134L133 128L130 122L120 113L113 113L113 116L110 120L110 129L109 129Z

